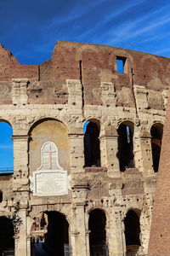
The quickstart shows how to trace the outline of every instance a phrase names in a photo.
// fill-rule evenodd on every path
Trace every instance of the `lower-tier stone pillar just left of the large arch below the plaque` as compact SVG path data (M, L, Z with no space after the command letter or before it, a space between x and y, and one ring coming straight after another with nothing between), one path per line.
M30 252L27 252L27 224L26 224L26 208L20 209L18 215L22 219L22 224L20 226L20 232L17 239L15 239L15 256L30 256Z

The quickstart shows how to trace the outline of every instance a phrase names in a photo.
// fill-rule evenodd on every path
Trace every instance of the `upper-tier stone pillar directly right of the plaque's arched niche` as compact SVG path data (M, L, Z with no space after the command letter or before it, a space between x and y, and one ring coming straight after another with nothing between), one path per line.
M71 143L71 172L84 172L84 135L83 133L71 133L69 138Z

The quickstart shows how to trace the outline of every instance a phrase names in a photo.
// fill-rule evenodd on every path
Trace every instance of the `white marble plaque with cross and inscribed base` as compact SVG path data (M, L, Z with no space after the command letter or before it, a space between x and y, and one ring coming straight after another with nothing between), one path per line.
M33 172L33 195L67 195L67 171L59 166L58 148L54 143L44 143L41 148L42 166Z

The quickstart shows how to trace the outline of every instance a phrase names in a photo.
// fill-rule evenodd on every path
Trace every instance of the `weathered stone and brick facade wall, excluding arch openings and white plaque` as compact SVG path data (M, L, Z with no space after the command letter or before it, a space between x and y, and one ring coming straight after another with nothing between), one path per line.
M126 58L125 73L117 73L116 56ZM150 128L164 124L169 74L169 59L128 49L58 42L50 60L23 66L0 46L0 119L14 131L14 175L1 177L0 215L12 214L18 202L23 224L15 236L16 256L30 255L32 220L46 211L65 214L73 256L88 256L88 218L95 208L105 211L110 256L126 253L124 218L129 209L140 212L137 254L147 254L156 189ZM64 167L71 172L71 189L68 195L38 197L30 189L37 166L30 140L37 134L41 144L38 124L49 119L68 131ZM83 168L83 125L94 119L100 124L101 167ZM120 172L117 129L125 121L134 125L135 168Z

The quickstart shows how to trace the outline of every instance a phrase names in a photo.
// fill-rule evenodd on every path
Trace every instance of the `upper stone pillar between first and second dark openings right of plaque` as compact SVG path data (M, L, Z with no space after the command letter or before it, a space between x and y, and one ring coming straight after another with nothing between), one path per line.
M100 138L101 166L106 166L108 176L119 177L119 160L117 154L117 136L101 136Z

